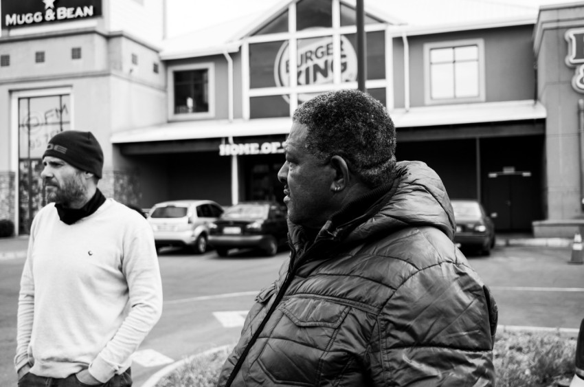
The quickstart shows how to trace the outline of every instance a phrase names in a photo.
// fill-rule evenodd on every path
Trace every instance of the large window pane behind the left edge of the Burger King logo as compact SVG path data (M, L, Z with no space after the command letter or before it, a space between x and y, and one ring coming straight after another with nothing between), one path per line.
M249 86L251 89L289 84L287 41L250 44Z

